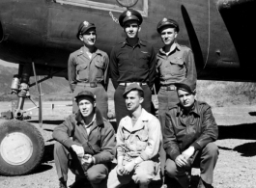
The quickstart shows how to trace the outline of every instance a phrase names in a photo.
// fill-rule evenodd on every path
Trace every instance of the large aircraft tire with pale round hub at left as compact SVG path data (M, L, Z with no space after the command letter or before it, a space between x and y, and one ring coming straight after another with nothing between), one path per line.
M26 121L0 124L0 175L27 175L43 158L44 141L40 131Z

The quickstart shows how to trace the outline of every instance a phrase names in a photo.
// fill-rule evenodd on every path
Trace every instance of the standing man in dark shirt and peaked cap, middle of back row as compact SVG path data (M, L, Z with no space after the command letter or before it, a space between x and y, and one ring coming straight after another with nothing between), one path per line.
M142 15L134 10L127 10L119 16L119 23L124 28L127 39L116 45L110 55L110 74L116 92L114 94L117 125L128 115L125 88L133 82L144 90L142 107L151 112L151 88L156 76L156 55L153 46L140 40Z

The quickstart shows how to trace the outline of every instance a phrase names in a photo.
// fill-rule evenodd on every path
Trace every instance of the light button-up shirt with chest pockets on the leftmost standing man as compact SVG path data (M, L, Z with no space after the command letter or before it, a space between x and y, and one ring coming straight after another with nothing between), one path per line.
M100 82L106 89L108 85L109 59L105 52L97 49L90 59L85 47L71 53L68 63L68 73L71 91L79 82Z

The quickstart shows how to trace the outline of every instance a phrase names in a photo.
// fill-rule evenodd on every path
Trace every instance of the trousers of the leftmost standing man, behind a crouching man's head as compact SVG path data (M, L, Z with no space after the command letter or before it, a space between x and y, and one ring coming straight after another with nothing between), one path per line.
M96 95L96 107L100 110L102 117L107 119L107 111L108 111L108 104L107 104L107 93L101 84L98 84L97 87L91 88L90 83L78 83L75 86L75 89L72 93L72 99L74 96L79 94L82 91L89 91L92 94ZM78 110L78 106L76 101L72 100L72 113L76 113Z

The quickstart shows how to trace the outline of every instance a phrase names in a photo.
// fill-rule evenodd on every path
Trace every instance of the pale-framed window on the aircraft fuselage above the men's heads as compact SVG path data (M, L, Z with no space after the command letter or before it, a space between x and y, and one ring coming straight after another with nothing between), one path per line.
M60 4L69 4L79 7L88 7L92 9L98 9L103 11L111 11L111 12L119 12L122 13L127 8L119 5L116 0L56 0L57 3ZM136 2L135 0L119 0L121 3L130 4L132 2ZM135 6L132 9L137 10L143 16L148 16L148 0L138 0Z

